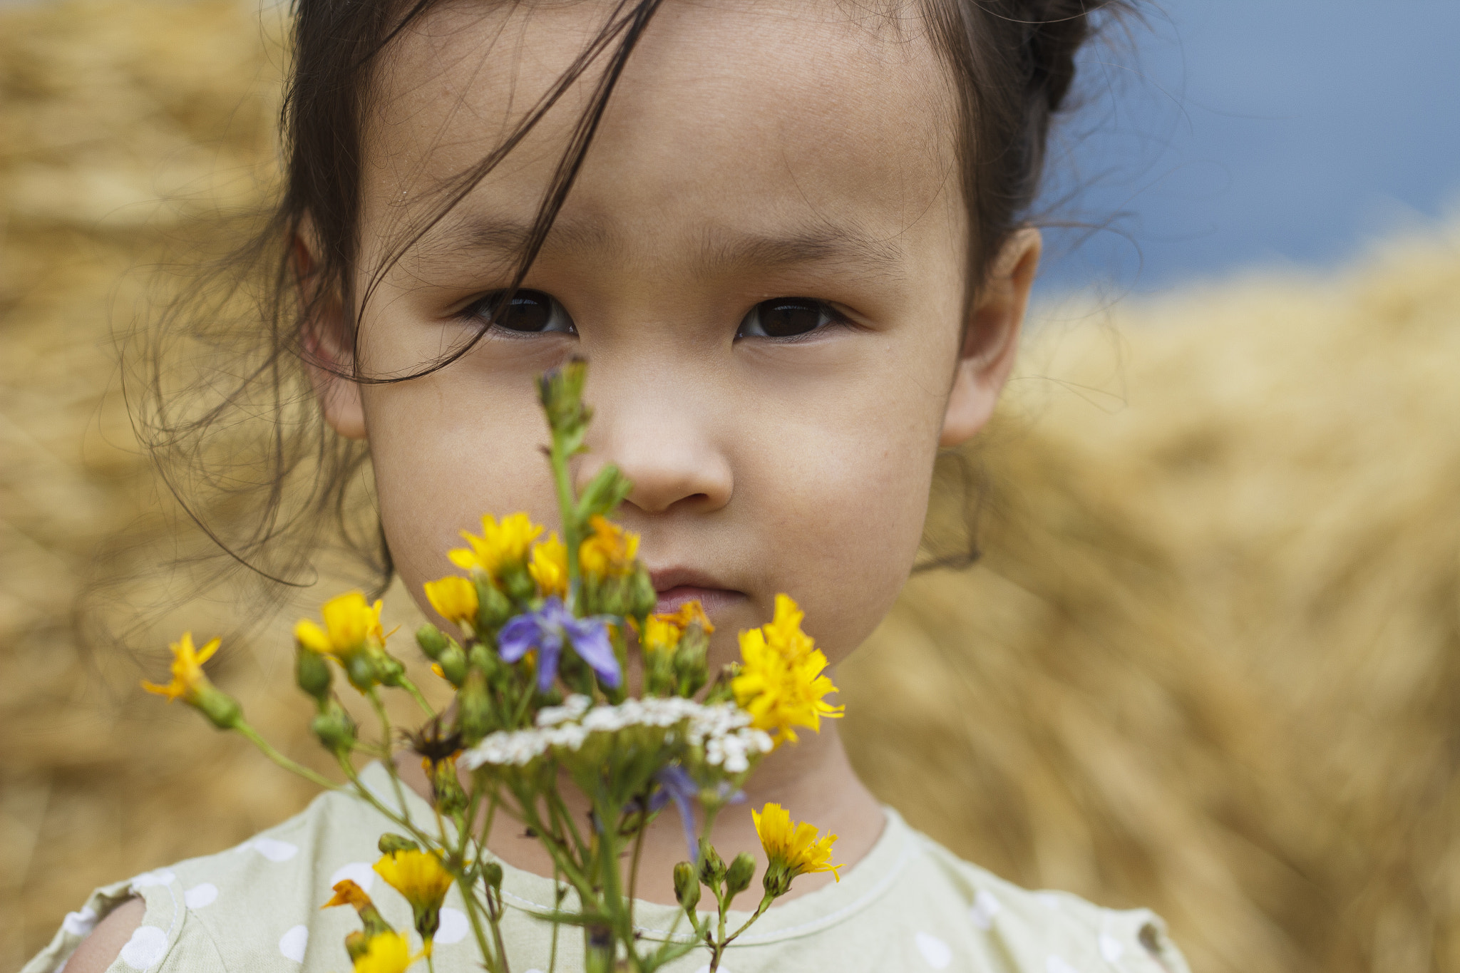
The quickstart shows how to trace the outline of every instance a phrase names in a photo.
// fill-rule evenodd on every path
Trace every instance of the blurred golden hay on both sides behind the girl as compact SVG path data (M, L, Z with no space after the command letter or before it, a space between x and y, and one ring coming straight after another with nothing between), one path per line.
M99 546L169 537L112 325L264 198L274 28L0 10L0 967L308 798L73 614ZM983 565L842 667L858 767L1003 875L1158 909L1200 973L1460 970L1460 235L1061 317L978 443ZM215 678L304 759L274 645Z

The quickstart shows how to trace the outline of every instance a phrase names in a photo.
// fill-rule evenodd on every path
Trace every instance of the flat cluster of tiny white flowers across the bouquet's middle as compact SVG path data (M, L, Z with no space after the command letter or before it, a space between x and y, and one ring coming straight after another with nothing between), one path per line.
M533 729L499 731L482 738L457 763L467 770L485 764L526 766L552 747L578 750L590 734L612 734L631 726L685 725L685 740L704 747L705 761L727 773L743 773L750 757L771 753L769 734L750 726L750 715L734 703L705 706L677 696L628 699L618 706L591 706L587 696L569 696L562 706L546 706Z

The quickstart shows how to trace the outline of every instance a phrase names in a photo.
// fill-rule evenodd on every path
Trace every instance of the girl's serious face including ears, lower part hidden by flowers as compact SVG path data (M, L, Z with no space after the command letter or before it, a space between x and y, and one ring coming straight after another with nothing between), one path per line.
M358 293L610 7L502 6L438 7L380 71ZM594 408L575 476L612 461L634 480L620 519L642 535L661 610L701 598L720 661L777 592L834 662L891 607L934 454L983 425L1007 373L1038 236L1016 235L999 282L965 303L948 79L918 20L850 9L670 0L507 319L483 308L585 83L365 301L366 375L416 371L485 330L442 371L321 395L336 429L369 441L385 535L423 610L422 582L453 570L445 551L483 512L556 527L533 376L572 354Z

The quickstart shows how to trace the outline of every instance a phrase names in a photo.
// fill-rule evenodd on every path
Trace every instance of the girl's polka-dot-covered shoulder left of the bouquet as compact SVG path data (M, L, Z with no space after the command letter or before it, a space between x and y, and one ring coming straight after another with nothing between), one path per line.
M130 899L142 899L142 923L121 947L115 973L226 969L296 973L321 926L330 960L358 926L349 909L320 912L342 878L374 884L371 862L383 818L364 804L323 794L295 817L228 850L191 858L96 888L61 922L51 942L22 973L61 973L96 925ZM345 913L345 915L342 915ZM321 957L323 958L323 957Z

